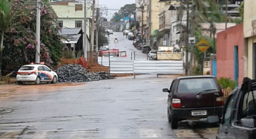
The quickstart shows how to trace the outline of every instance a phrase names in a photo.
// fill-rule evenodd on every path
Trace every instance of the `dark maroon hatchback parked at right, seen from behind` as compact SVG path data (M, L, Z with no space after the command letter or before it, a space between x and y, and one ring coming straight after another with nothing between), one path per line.
M222 117L224 96L214 76L181 76L175 78L168 94L167 116L171 128L178 122L191 118L201 119L210 115Z

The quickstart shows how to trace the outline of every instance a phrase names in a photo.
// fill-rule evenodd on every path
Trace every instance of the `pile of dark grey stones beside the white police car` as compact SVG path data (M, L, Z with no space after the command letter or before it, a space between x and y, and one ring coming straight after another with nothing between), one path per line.
M58 75L58 82L89 82L103 79L113 79L106 72L88 72L80 64L62 65L55 70Z

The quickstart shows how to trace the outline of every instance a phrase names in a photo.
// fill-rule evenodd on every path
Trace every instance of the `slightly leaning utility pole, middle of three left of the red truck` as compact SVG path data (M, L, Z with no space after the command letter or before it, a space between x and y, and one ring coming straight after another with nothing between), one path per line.
M93 19L92 19L92 22L91 22L91 49L90 49L90 63L93 63L95 0L93 0L92 9L93 9Z

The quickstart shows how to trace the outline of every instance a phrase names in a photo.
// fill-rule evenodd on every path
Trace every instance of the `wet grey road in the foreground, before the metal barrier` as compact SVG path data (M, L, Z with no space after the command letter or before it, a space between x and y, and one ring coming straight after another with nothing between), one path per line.
M0 101L0 138L9 139L214 139L208 124L167 121L172 78L140 75L87 82L58 91L34 90ZM198 125L197 125L198 124Z

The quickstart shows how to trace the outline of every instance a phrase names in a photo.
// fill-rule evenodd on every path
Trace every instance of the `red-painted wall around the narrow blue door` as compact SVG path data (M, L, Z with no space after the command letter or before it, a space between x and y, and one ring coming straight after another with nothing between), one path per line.
M229 27L225 31L217 33L216 40L216 60L217 78L230 77L234 79L234 46L238 45L239 62L239 85L244 76L244 37L243 23Z

